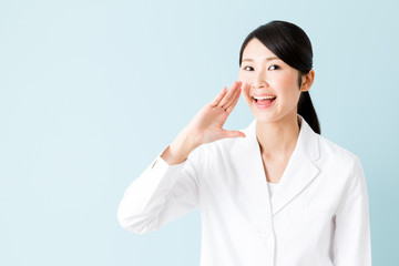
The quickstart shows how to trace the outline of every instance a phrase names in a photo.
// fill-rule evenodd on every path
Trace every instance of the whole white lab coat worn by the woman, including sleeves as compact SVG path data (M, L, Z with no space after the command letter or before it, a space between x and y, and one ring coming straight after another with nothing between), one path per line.
M121 225L136 234L201 208L201 266L369 266L366 180L359 158L300 119L272 201L256 120L246 137L203 144L181 164L161 153L127 187Z

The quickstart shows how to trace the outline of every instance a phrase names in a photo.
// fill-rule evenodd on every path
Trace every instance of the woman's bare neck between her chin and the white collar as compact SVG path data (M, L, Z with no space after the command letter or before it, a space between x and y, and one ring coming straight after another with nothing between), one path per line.
M264 157L285 158L294 152L299 135L297 115L278 122L256 122L256 137Z

